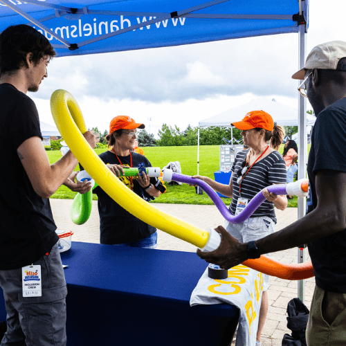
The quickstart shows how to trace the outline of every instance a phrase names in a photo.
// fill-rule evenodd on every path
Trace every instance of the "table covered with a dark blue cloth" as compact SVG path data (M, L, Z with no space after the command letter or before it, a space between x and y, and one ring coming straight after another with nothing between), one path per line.
M73 242L61 255L68 346L229 345L237 308L190 307L206 269L195 253Z

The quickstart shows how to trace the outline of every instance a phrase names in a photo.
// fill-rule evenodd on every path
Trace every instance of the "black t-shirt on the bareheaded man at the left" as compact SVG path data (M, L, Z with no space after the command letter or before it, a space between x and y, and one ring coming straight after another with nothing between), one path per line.
M35 103L12 84L0 84L0 269L39 260L59 240L49 199L39 197L17 154L28 138L42 138Z

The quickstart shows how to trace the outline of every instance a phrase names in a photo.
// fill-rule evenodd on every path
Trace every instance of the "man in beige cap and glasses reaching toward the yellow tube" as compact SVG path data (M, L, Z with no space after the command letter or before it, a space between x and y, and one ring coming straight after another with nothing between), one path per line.
M346 42L313 48L298 90L317 117L311 136L307 172L311 203L308 214L256 242L239 243L219 226L219 248L197 254L221 268L231 268L264 253L308 243L316 276L307 325L307 345L346 343Z

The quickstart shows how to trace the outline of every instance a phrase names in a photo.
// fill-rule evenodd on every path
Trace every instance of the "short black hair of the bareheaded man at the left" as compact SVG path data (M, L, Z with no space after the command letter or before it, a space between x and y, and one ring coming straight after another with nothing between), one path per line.
M31 60L36 65L46 55L55 57L51 43L42 33L25 24L9 26L0 34L0 76L28 68L26 56L32 53Z

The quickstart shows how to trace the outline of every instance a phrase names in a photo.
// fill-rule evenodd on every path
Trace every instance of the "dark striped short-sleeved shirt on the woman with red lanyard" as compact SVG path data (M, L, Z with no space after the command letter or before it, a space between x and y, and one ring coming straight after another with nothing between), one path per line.
M237 208L237 201L239 199L239 184L237 183L238 171L242 167L242 163L246 160L246 154L248 150L243 150L237 154L235 162L232 166L232 182L233 182L233 199L230 203L230 212L235 215ZM286 184L286 165L284 158L282 158L279 152L271 152L260 161L257 161L251 170L248 171L245 178L241 183L242 198L251 201L255 195L262 189L267 188L273 184ZM255 210L251 217L270 217L276 224L274 203L265 200Z

